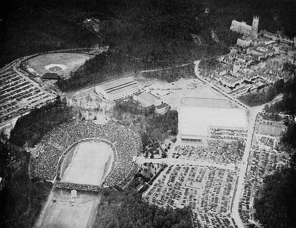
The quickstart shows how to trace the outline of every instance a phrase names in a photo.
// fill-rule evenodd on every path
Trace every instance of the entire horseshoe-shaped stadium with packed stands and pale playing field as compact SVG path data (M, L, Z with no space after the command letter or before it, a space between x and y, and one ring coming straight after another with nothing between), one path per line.
M30 161L30 178L94 192L103 184L123 186L137 171L132 161L141 149L140 136L122 125L73 121L42 138Z

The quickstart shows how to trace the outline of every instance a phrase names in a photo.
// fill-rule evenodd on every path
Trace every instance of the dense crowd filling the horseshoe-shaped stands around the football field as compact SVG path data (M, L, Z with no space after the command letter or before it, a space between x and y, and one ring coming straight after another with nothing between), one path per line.
M73 121L48 132L37 145L36 158L31 158L31 178L54 180L56 175L60 177L65 156L80 142L93 139L108 143L113 150L114 162L105 185L124 185L138 169L132 160L142 150L140 136L120 124L96 125L91 121ZM56 186L65 187L66 184ZM91 186L81 188L92 189Z

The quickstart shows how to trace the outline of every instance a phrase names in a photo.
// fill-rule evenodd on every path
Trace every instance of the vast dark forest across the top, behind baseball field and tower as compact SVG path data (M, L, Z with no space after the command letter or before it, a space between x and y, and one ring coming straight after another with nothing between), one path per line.
M192 61L228 52L237 37L229 31L231 20L251 25L253 15L260 17L259 30L296 35L294 0L2 0L0 4L0 66L35 53L97 44L152 61ZM82 26L86 18L100 20L98 33Z

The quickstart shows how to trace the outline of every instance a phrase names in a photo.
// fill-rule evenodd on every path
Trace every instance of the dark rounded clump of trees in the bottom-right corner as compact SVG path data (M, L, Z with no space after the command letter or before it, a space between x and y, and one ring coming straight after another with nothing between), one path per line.
M296 227L296 170L286 168L264 179L258 203L259 221L268 228Z

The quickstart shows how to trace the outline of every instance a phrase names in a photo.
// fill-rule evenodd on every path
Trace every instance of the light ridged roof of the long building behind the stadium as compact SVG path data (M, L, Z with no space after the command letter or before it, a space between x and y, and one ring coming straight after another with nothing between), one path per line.
M137 87L138 84L131 78L118 78L99 85L106 93L116 94Z

